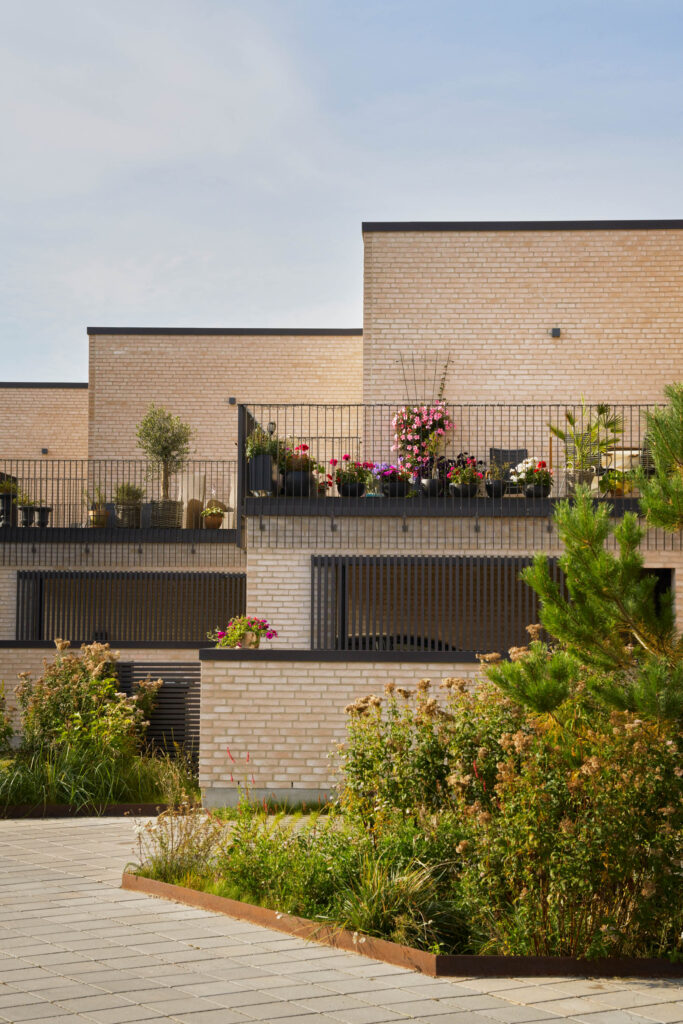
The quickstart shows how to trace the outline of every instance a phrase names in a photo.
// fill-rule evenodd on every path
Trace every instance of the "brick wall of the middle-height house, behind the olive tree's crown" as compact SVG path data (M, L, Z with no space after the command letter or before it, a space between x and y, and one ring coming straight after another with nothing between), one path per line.
M237 458L237 406L362 399L362 339L343 335L90 335L90 458L140 458L152 402L195 430L200 459Z

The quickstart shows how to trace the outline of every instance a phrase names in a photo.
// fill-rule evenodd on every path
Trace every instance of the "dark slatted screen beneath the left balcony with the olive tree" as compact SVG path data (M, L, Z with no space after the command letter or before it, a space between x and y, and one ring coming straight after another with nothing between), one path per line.
M17 572L16 640L201 643L244 614L244 572Z

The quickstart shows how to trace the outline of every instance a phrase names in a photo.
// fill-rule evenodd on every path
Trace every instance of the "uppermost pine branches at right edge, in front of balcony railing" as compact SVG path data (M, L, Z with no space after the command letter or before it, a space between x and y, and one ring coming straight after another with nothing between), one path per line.
M640 505L648 525L683 529L683 383L665 388L669 404L645 413L654 474L638 473Z

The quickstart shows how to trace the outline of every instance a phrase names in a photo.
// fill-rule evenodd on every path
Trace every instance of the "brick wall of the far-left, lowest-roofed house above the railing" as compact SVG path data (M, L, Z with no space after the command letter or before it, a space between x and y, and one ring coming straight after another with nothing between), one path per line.
M44 447L48 450L45 456L41 455ZM0 384L0 460L87 459L87 456L86 385Z

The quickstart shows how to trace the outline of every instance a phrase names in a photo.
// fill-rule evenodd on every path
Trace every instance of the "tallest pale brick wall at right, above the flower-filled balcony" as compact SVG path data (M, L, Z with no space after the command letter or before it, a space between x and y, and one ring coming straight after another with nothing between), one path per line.
M683 376L681 228L364 240L365 401L429 398L446 353L455 402L656 401Z

